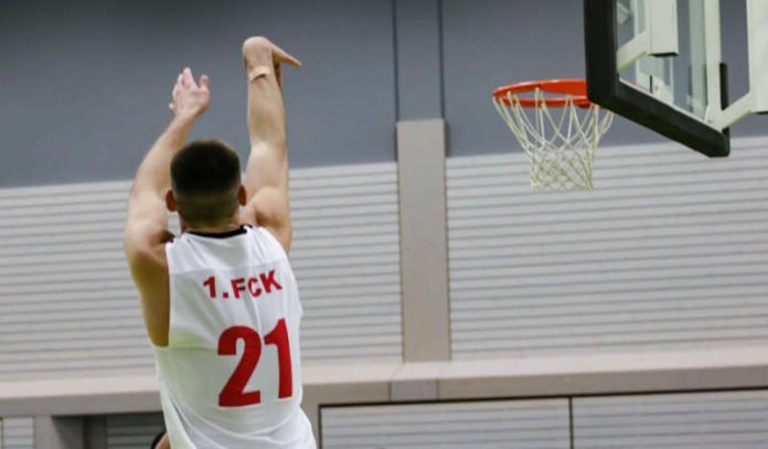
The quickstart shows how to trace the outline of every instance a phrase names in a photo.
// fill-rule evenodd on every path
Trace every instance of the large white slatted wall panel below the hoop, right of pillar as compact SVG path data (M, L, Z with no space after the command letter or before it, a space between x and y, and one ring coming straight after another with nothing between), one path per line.
M596 191L524 154L448 160L457 359L768 342L768 141L601 148Z

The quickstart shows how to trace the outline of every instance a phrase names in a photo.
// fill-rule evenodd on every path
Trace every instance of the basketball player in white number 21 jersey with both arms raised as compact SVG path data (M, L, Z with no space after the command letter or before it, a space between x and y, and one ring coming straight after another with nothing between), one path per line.
M301 306L287 254L288 158L280 64L265 38L243 44L250 157L217 140L184 145L211 100L209 77L179 75L173 118L141 162L125 250L154 349L168 429L158 447L314 448L299 408ZM241 207L242 206L242 207ZM168 231L178 212L181 235Z

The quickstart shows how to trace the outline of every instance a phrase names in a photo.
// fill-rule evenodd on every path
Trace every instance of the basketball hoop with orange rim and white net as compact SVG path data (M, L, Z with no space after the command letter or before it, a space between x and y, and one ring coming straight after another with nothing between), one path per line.
M522 96L526 93L533 96ZM493 92L493 105L529 156L534 191L593 190L595 148L610 128L614 114L589 101L586 81L534 81L499 87ZM552 109L561 114L553 115Z

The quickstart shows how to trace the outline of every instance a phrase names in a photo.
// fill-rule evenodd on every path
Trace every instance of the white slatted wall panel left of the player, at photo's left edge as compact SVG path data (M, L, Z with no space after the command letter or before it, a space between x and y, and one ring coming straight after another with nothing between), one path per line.
M126 181L0 190L0 379L152 368Z

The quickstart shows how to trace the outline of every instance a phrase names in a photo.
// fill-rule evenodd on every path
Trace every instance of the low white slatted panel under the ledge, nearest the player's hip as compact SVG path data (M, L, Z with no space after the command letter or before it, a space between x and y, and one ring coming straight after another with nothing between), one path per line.
M321 409L326 449L566 449L566 399Z

